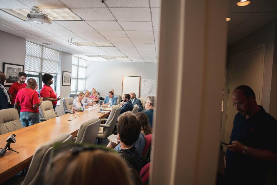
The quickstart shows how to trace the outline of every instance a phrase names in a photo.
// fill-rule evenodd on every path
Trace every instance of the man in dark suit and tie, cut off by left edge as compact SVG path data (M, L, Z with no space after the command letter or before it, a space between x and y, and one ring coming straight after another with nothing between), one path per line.
M11 108L11 97L3 85L5 81L6 75L0 71L0 110Z

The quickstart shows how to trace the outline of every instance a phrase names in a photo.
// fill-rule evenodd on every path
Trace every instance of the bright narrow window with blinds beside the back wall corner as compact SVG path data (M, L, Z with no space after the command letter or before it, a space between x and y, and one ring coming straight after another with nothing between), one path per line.
M87 60L72 57L71 93L77 94L85 91Z

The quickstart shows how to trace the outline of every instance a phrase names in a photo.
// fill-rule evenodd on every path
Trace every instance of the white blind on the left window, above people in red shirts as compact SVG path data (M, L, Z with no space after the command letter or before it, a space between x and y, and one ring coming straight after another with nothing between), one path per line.
M58 51L26 42L25 71L57 74Z

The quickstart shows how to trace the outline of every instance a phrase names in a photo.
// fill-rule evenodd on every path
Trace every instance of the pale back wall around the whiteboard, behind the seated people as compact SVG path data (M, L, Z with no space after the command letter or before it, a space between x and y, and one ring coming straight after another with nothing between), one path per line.
M100 97L105 97L111 89L121 95L122 76L157 79L157 68L156 63L87 61L86 89L96 88Z

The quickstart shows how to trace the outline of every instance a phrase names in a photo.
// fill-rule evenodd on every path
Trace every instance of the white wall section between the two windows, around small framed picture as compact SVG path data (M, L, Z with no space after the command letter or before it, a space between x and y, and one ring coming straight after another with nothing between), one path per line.
M61 97L61 100L58 102L59 105L57 105L56 107L57 114L64 114L62 99L65 97L68 97L71 91L71 86L62 86L63 71L71 72L71 69L72 69L72 55L65 52L59 52L57 93L58 93L58 96Z

